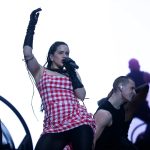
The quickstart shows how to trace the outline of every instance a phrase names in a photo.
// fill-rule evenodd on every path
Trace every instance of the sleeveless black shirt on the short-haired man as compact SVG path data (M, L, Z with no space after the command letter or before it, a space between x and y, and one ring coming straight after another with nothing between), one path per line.
M103 99L99 102L97 111L100 109L109 111L113 122L110 127L104 129L98 138L95 150L120 150L122 128L125 120L124 108L121 106L120 109L116 109L107 99Z

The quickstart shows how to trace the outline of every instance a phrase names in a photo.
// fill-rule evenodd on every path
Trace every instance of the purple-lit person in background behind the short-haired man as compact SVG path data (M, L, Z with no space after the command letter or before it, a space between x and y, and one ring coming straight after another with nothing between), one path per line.
M139 87L138 90L140 93L137 99L130 105L129 109L132 111L130 114L130 119L126 122L126 130L129 129L130 123L133 118L139 118L140 120L144 121L147 125L146 130L141 133L135 145L139 148L139 150L145 150L146 147L150 147L150 107L147 101L147 94L149 92L149 83L150 83L150 73L146 71L142 71L140 69L140 63L137 59L132 58L129 60L128 63L130 72L127 74L134 82L136 87Z

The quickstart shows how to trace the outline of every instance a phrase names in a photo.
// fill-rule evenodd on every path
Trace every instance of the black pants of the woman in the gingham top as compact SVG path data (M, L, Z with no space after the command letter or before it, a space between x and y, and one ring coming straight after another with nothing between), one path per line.
M63 150L71 143L73 150L92 150L94 133L89 125L61 133L47 133L40 137L35 150Z

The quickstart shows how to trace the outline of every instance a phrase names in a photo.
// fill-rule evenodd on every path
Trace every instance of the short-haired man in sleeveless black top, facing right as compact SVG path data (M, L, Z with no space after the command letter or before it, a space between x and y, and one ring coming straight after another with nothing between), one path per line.
M132 79L127 76L115 79L112 91L99 101L94 115L94 150L122 150L122 128L125 121L123 104L132 101L135 95L135 83Z

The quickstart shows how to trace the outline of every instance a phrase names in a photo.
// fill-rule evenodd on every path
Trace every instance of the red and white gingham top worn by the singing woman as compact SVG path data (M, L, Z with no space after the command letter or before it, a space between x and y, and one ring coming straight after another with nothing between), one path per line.
M95 121L74 95L69 77L49 75L46 69L37 84L44 108L43 133L58 133Z

